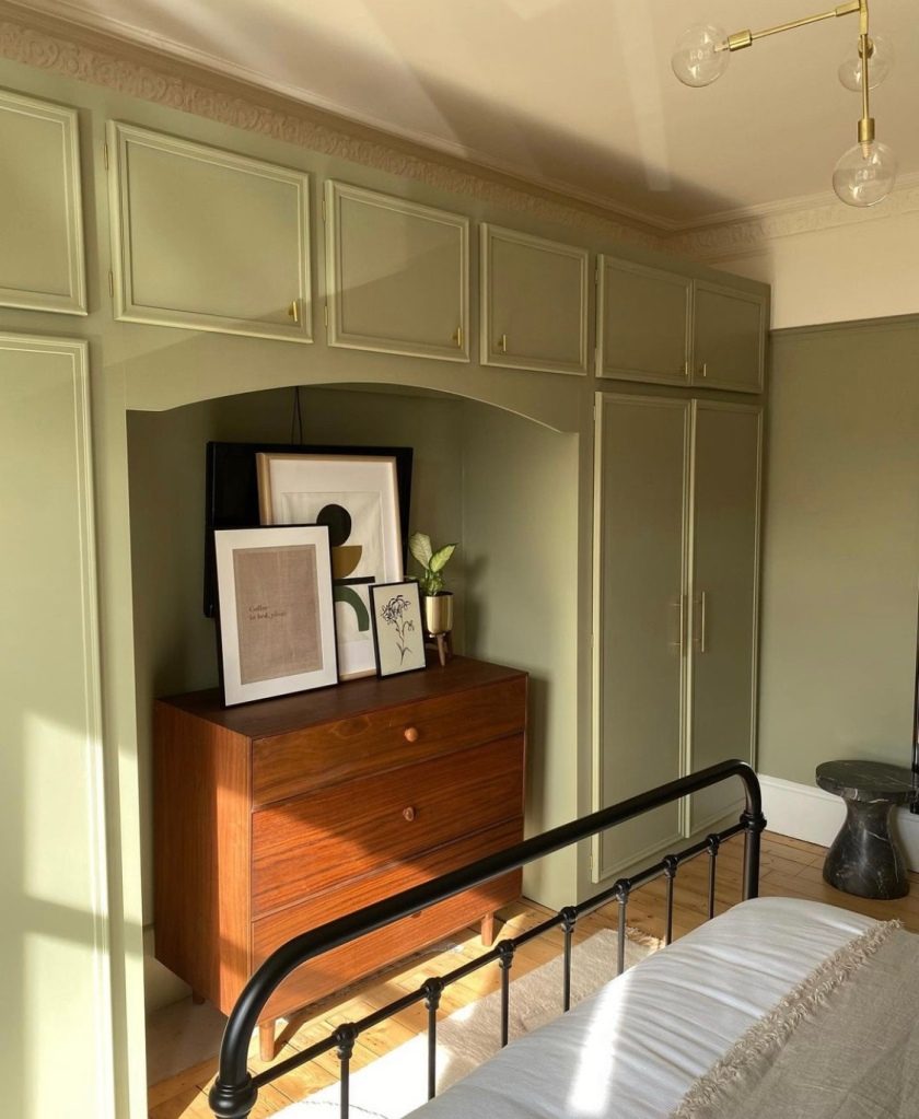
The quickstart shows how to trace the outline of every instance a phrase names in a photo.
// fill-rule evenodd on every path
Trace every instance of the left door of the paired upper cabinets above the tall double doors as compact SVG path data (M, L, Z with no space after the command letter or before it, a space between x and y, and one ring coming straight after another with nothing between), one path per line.
M601 256L598 375L687 384L691 295L687 276Z

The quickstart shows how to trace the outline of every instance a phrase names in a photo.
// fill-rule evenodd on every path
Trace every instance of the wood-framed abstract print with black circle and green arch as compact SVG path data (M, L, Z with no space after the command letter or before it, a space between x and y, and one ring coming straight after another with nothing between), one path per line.
M260 453L263 525L325 525L343 679L376 667L369 589L402 579L398 483L394 458Z

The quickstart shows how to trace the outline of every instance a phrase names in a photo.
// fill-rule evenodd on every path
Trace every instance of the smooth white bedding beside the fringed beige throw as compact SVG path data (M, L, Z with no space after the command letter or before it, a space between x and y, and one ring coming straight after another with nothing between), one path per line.
M743 902L412 1115L663 1119L758 1017L873 923L798 899Z

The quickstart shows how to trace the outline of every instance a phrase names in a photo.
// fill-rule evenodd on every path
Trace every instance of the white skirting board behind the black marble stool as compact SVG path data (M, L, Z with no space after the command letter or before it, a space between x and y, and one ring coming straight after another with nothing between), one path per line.
M784 781L778 777L760 774L759 783L766 826L770 831L823 847L833 843L845 819L845 806L840 797L816 786ZM919 816L898 808L892 824L909 868L919 869Z

